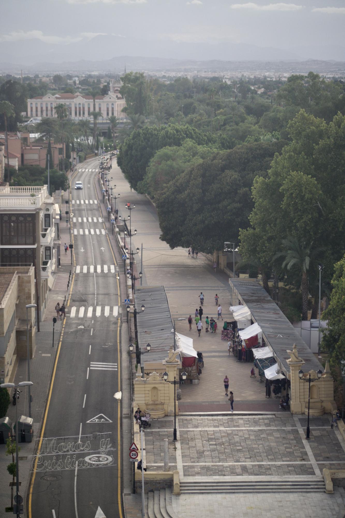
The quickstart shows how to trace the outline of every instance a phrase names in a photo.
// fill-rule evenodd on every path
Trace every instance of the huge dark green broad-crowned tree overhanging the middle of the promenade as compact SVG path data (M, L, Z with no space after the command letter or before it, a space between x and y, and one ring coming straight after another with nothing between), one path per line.
M212 154L186 170L156 197L161 239L170 248L194 246L211 253L238 242L253 207L251 188L283 142L257 142Z

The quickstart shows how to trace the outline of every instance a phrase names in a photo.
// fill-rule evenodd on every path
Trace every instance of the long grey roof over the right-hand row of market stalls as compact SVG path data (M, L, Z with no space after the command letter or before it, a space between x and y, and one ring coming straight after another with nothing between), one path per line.
M250 309L252 320L260 325L265 341L269 343L283 369L290 372L290 367L286 363L290 356L286 350L292 350L293 344L296 343L298 356L305 361L305 365L302 367L305 372L312 369L324 370L306 342L301 339L261 284L241 279L229 279L229 283L235 287L243 304Z

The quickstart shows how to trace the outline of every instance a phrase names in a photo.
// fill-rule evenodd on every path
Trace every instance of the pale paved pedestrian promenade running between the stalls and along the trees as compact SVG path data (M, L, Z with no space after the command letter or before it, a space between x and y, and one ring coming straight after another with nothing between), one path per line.
M188 250L176 248L170 250L168 245L160 240L160 227L156 210L148 198L130 190L120 168L113 163L113 182L117 192L121 194L121 204L118 205L121 217L127 218L124 204L130 202L136 205L132 210L132 232L137 229L137 235L132 236L132 249L141 249L142 284L164 285L173 319L185 318L191 314L194 318L195 309L199 308L199 295L203 292L203 322L209 318L217 319L217 306L214 295L219 296L223 310L223 319L229 319L229 290L228 277L217 269L214 273L210 257L199 253L197 258L188 257ZM126 244L129 247L129 242ZM136 270L140 271L140 252L135 255ZM138 276L137 276L138 277ZM138 284L138 281L137 281ZM186 384L181 386L182 400L179 409L182 412L228 411L229 402L225 397L223 379L228 375L229 390L233 391L235 410L241 411L279 411L279 399L265 398L265 384L258 383L258 377L250 378L252 364L239 363L227 352L227 341L221 340L222 320L217 320L217 335L205 333L202 330L198 337L195 324L189 331L187 320L176 322L176 330L193 338L194 349L202 351L204 364L198 385ZM149 355L145 358L149 361Z

